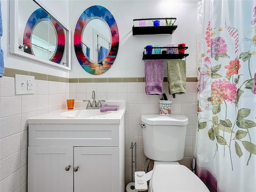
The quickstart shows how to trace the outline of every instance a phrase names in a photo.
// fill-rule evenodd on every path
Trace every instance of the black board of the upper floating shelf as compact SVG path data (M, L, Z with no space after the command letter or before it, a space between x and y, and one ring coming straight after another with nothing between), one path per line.
M172 34L177 25L172 26L148 26L148 27L132 27L132 35L156 35L156 34Z

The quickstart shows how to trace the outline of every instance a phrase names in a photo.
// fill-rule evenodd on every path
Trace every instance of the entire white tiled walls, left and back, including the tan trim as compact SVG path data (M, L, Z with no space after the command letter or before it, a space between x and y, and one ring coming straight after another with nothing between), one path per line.
M8 74L6 70L5 74ZM39 114L66 108L66 99L96 99L126 101L126 184L131 182L132 151L136 142L137 170L143 170L146 159L143 152L142 130L138 123L142 114L158 114L159 96L146 95L144 78L61 79L55 76L34 74L35 94L14 94L14 71L0 78L0 191L26 192L28 128L26 119ZM63 82L64 81L64 82ZM79 83L78 83L79 82ZM187 93L172 99L172 113L189 119L185 154L181 164L192 168L197 129L197 82L187 82ZM163 82L168 93L168 83ZM151 163L151 168L153 163Z

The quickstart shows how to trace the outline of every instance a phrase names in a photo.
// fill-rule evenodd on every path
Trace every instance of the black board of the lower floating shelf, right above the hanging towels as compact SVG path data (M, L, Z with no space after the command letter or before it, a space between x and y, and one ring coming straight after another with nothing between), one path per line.
M188 54L144 54L142 60L171 60L171 59L183 59Z

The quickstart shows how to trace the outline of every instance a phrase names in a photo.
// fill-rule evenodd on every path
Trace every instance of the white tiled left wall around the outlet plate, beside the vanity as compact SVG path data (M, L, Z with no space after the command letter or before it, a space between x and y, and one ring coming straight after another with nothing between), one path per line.
M0 78L0 191L27 192L26 119L65 108L69 83L49 81L45 75L46 80L35 80L35 94L15 95L12 76Z

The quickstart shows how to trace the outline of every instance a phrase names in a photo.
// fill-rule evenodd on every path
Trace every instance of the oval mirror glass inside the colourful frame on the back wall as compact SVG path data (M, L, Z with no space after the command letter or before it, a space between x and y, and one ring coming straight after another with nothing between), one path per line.
M82 50L90 62L102 62L111 48L112 36L108 24L99 17L93 17L82 32Z

